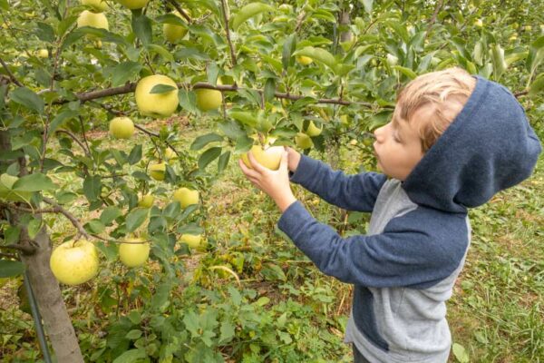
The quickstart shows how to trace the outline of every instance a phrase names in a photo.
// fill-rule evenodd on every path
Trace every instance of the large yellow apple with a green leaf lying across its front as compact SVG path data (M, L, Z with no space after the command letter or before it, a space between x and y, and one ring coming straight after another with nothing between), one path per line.
M151 93L157 84L166 84L174 90L165 93ZM178 108L178 85L170 77L153 74L143 77L136 86L136 105L144 116L168 117Z

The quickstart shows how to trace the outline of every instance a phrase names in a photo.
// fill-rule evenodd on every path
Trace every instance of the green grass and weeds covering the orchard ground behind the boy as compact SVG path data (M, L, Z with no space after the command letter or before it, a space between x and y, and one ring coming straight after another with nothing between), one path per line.
M207 124L206 127L211 128L212 125ZM202 125L189 124L180 134L180 147L189 149L191 140L207 132L209 129L204 130ZM145 147L150 144L142 136L138 136L136 141L144 143ZM119 143L116 147L123 146ZM361 160L365 160L365 165L369 164L366 153L356 147L348 147L339 151L339 168L353 173L357 172ZM324 157L316 153L311 156ZM215 162L209 166L210 169L215 167ZM71 174L58 175L56 182L62 182L66 190L75 191L82 187L81 180ZM329 223L345 234L362 230L368 221L366 215L352 213L345 216L297 186L294 186L294 191L319 221ZM453 341L465 348L471 362L544 361L543 191L544 159L541 158L529 181L501 192L489 203L470 212L471 250L453 297L448 302L448 319ZM179 294L171 298L176 300L173 304L183 306L187 303L178 300L181 297L189 301L193 299L183 289L225 289L232 286L247 290L250 291L248 296L252 297L248 298L248 303L262 303L255 308L257 319L263 324L257 332L263 336L276 330L287 334L281 336L283 344L277 349L267 346L265 350L259 350L259 347L237 341L239 347L260 352L255 353L255 360L247 361L263 361L259 357L264 351L270 355L269 361L277 362L351 361L350 349L343 343L351 287L325 277L290 242L277 234L274 227L280 212L266 194L257 191L245 179L235 157L223 176L201 193L206 215L202 226L212 241L213 249L198 258L186 260L188 285L180 287ZM71 211L83 220L89 218L83 202L74 203ZM48 217L47 222L53 231L59 231L53 233L55 239L62 238L66 231L72 229L62 217ZM241 287L228 274L209 272L207 268L213 265L228 265L239 276ZM104 269L113 274L122 272L112 263L105 264ZM151 273L150 269L147 274ZM107 273L104 272L104 276ZM208 273L209 280L199 279L199 276L204 276L199 273ZM100 332L108 329L110 324L108 319L92 318L95 311L91 307L99 299L101 283L95 281L81 289L64 289L74 325L80 331L83 350L89 354L103 343L104 340L96 335L102 334ZM15 296L16 283L10 281L0 292L2 296ZM194 294L194 299L201 299L199 293ZM200 304L208 301L204 303L208 307L228 303L228 296L218 299L219 302L213 304L208 298L199 301ZM288 324L274 325L283 314L289 317ZM113 312L108 318L112 319L112 316ZM0 348L3 361L35 361L39 348L31 324L30 316L17 309L16 299L2 305L0 325L10 333L9 338L4 335ZM265 338L257 341L266 344ZM228 357L228 350L224 351L224 356ZM457 359L452 355L450 361Z

